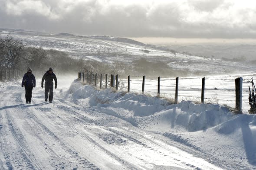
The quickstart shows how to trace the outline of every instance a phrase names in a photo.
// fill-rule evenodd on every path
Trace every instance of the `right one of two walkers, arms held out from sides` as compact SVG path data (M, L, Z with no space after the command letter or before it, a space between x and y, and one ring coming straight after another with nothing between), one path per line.
M53 73L53 68L49 68L48 71L43 75L41 87L43 88L43 81L44 83L44 94L45 94L45 101L48 100L48 93L49 93L49 103L53 102L53 80L55 82L55 89L57 88L57 77Z

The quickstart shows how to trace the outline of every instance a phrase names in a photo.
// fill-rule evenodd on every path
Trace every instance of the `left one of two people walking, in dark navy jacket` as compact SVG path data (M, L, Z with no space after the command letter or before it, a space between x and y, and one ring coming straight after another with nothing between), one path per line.
M31 103L32 90L33 87L36 87L36 79L35 76L32 74L32 70L30 67L27 68L27 72L23 76L21 87L23 86L25 86L26 91L26 103Z

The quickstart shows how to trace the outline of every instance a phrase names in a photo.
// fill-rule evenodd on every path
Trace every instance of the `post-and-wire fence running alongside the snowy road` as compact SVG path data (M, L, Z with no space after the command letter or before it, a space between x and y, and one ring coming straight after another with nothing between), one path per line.
M100 88L104 89L116 88L117 90L165 97L174 101L176 100L176 102L192 100L198 103L216 103L236 108L237 95L235 81L237 77L178 77L177 93L177 77L161 77L161 81L159 82L158 78L160 77L145 78L144 76L137 75L101 75L93 74L92 72L89 74L79 72L79 74L80 80L82 80L83 83L100 87L99 84L101 82ZM86 74L88 74L87 77ZM100 79L100 75L102 79ZM118 79L118 81L116 81L116 79ZM205 81L204 87L202 87L203 79ZM248 86L250 86L252 79L251 76L247 75L243 78L241 77L241 80L243 85L240 87L240 109L242 112L248 112L250 107ZM204 91L203 96L202 91ZM203 101L202 97L205 101Z

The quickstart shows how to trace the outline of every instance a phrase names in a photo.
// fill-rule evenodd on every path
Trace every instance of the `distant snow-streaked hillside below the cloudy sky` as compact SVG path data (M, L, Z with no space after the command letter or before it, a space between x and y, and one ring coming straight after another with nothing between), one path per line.
M9 29L0 30L6 31ZM177 48L177 46L176 48L172 46L159 47L146 45L129 38L108 35L73 35L64 32L54 35L42 32L10 30L10 33L0 32L0 36L4 37L10 34L29 46L39 46L46 50L54 49L65 52L71 58L101 62L119 67L118 69L133 69L141 74L191 76L228 74L254 69L235 61L217 59L210 52L213 49L208 49L209 53L207 53L207 48L210 48L210 46L201 49L201 51L207 53L206 57L186 52L190 51L191 46L187 48Z

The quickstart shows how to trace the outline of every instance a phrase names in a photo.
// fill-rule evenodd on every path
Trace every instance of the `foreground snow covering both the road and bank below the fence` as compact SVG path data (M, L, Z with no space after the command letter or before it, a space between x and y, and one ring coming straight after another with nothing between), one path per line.
M58 77L53 103L0 83L0 170L256 169L256 116Z

